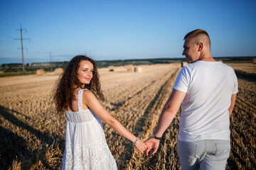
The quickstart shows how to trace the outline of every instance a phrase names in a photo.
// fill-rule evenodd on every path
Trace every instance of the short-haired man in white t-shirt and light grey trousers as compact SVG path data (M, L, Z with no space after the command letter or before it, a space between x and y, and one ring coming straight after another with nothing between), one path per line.
M178 133L181 169L225 169L230 152L230 120L238 93L234 70L210 55L210 38L205 30L188 33L182 55L187 66L181 69L166 102L153 136L145 141L146 155L159 147L181 102L183 111Z

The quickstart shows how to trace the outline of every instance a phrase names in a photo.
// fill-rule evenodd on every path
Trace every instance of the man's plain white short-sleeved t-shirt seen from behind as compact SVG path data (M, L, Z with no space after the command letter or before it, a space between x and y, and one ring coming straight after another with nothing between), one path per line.
M238 93L234 69L222 62L197 61L181 69L173 89L183 91L178 140L230 140L229 111Z

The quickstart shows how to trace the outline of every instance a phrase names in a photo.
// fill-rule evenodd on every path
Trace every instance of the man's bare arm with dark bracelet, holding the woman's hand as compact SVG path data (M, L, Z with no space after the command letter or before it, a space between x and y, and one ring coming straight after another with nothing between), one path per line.
M156 131L154 132L154 135L156 137L161 137L164 134L164 131L169 127L185 96L186 93L173 89L173 91L171 92L171 96L169 97L168 101L166 101L166 104L161 111L161 115L156 126ZM149 151L152 148L154 148L152 154L156 153L156 150L159 147L159 141L160 140L156 140L153 137L150 137L148 140L145 141L147 147L146 155L149 154Z

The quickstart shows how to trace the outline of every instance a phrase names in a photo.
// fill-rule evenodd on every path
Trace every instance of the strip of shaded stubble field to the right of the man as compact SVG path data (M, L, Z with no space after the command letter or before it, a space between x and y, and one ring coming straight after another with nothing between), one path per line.
M256 168L256 80L238 75L238 96L230 119L228 169Z

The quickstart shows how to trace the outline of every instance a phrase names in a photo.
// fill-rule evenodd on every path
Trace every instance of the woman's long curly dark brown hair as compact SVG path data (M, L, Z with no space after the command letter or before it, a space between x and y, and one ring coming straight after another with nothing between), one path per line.
M80 83L77 77L80 62L84 60L91 62L94 70L90 84L85 84L85 86ZM85 55L73 57L73 59L68 63L67 67L65 67L63 74L60 76L58 81L56 81L55 88L53 89L53 101L58 114L63 113L63 109L68 108L69 103L71 103L73 98L73 92L78 88L88 89L92 91L92 93L95 94L98 99L105 101L105 97L100 87L100 76L97 72L96 63L94 60L86 57Z

